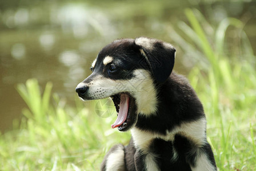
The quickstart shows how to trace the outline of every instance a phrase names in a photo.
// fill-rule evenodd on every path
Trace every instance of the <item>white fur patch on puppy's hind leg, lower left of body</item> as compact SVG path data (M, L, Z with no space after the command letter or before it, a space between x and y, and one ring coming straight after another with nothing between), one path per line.
M106 161L106 171L113 170L125 170L125 152L119 146L118 149L115 149L113 153L107 157Z

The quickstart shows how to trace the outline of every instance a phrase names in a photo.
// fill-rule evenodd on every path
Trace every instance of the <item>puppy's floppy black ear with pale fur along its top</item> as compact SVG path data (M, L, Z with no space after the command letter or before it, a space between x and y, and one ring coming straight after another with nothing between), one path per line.
M163 83L173 71L175 48L170 43L157 39L140 37L135 39L157 82Z

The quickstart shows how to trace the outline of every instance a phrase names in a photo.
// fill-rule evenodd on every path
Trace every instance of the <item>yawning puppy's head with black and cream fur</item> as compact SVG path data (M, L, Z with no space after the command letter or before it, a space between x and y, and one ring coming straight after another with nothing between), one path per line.
M94 60L92 74L79 83L82 100L111 97L118 112L112 128L127 131L138 115L157 111L155 84L162 84L174 66L175 48L157 39L118 39L104 47Z

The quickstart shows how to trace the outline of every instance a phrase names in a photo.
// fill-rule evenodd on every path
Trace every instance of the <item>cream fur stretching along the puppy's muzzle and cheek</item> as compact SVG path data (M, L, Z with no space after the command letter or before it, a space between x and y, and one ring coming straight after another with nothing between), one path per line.
M134 77L130 80L112 80L98 75L90 83L80 84L89 87L88 96L94 100L104 99L121 92L130 92L135 98L139 113L146 116L154 115L158 99L150 72L138 69L133 74Z

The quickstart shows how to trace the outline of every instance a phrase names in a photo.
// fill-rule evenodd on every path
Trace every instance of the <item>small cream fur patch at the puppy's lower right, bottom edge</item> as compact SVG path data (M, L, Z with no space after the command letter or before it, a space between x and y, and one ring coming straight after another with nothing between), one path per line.
M197 156L197 161L195 162L195 167L191 166L192 171L214 171L215 167L208 160L205 153L199 153Z

